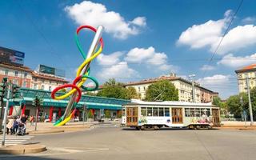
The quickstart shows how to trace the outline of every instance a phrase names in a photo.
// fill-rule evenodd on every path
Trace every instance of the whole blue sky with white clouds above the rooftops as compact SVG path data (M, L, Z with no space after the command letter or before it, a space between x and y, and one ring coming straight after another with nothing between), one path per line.
M91 74L99 82L139 81L175 72L222 98L238 93L234 70L256 61L256 2L245 0L218 46L240 0L230 1L0 1L0 46L26 53L25 65L66 70L83 61L74 42L78 26L102 25L105 48ZM94 34L79 39L88 50Z

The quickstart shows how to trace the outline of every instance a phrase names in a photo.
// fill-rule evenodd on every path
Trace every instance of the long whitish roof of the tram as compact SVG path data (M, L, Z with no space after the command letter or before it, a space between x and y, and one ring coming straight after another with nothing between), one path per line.
M162 101L162 102L146 102L138 99L132 99L130 103L123 104L122 106L214 106L211 102L208 103L195 103L195 102L179 102L179 101Z

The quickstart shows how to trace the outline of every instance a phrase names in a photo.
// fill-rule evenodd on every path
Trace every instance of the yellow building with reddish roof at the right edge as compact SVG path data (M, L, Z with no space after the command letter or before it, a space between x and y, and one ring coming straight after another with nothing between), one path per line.
M256 64L245 66L242 69L235 70L238 75L238 90L239 93L246 92L247 82L249 80L250 89L256 86Z

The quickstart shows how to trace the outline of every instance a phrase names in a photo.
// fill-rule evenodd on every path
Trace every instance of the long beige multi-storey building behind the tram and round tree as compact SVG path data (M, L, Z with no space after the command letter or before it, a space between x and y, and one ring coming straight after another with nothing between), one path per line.
M154 82L158 82L160 80L168 80L174 84L176 89L178 89L178 100L181 102L193 102L192 98L192 82L184 79L178 78L174 76L174 74L168 76L161 76L159 78L150 78L145 79L140 82L128 82L125 87L128 88L130 86L134 87L138 94L140 94L141 99L146 98L146 90L148 86L153 84ZM199 86L197 83L194 85L195 92L195 102L212 102L215 94L211 90L207 90L206 88Z

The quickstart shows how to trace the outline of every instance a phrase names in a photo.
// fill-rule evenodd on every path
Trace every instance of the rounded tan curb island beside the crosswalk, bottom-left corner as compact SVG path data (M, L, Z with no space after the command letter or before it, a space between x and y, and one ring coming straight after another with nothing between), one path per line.
M0 154L34 154L42 151L46 151L46 146L38 144L0 147Z

